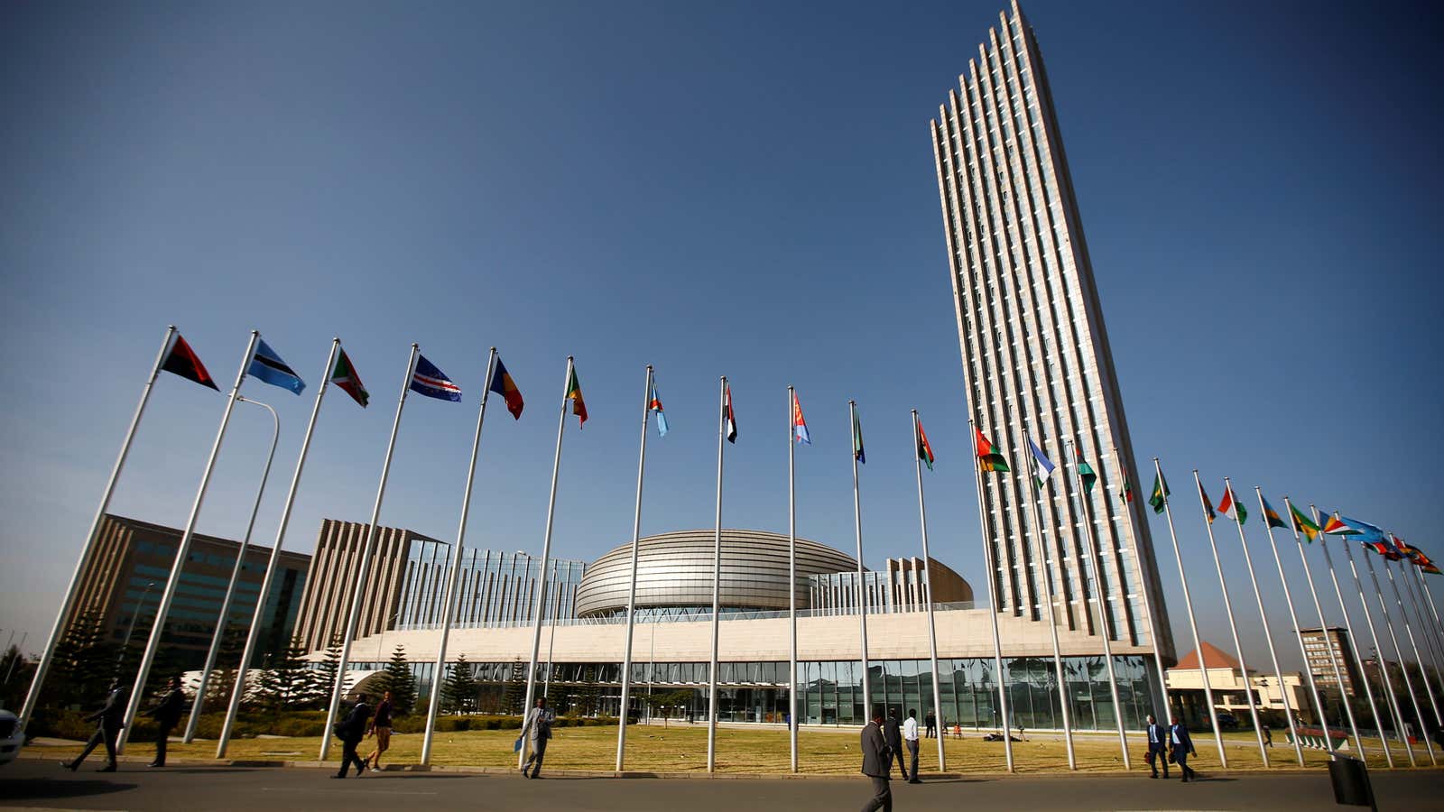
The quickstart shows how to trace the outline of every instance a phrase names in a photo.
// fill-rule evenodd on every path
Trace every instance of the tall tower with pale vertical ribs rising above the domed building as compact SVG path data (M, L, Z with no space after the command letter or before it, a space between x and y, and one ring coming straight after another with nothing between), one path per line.
M1102 598L1112 640L1151 647L1157 639L1173 659L1141 507L1139 481L1152 477L1134 462L1038 40L1017 0L998 19L931 123L967 409L1012 467L982 478L983 543L995 566L988 589L999 611L1041 621L1045 572L1058 626L1102 634L1092 610ZM1028 504L1025 436L1058 464L1041 490L1041 527ZM1099 474L1092 494L1077 487L1074 455ZM1125 477L1139 493L1132 503L1121 498ZM1100 584L1084 558L1084 523Z

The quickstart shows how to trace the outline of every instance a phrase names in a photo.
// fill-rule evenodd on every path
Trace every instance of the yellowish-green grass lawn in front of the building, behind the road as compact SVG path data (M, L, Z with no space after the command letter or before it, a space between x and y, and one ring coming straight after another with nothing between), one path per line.
M567 727L556 728L556 738L547 748L546 766L554 770L601 770L611 772L615 766L617 728L614 727ZM432 747L432 764L438 766L475 766L475 767L514 767L516 753L511 750L516 741L516 731L456 731L438 733ZM1253 737L1249 733L1226 734L1229 753L1229 767L1233 770L1262 769L1259 751L1252 746ZM1079 737L1074 743L1079 770L1082 772L1122 772L1123 763L1119 754L1118 741L1109 737L1090 734ZM1145 772L1144 738L1142 734L1129 735L1132 769ZM1194 737L1199 757L1191 761L1200 772L1216 770L1219 764L1217 748L1212 735L1199 734ZM1369 764L1385 767L1383 753L1378 748L1378 740L1367 743ZM316 759L321 740L318 737L305 738L244 738L232 740L228 757L237 760L271 760L271 761L310 761ZM360 747L365 756L374 747L374 740L367 740ZM788 744L786 730L718 730L718 772L721 773L786 773L788 772ZM978 734L969 733L962 740L946 740L947 769L956 773L998 773L1005 770L1002 743L982 741ZM26 748L27 754L45 757L64 757L79 750L78 746L38 747ZM386 756L387 764L414 764L420 759L422 734L394 734L391 750ZM137 741L127 747L127 756L150 757L155 748L150 743ZM627 770L631 772L661 772L687 773L705 772L708 753L708 731L705 725L631 725L627 730ZM172 744L170 754L180 759L212 759L215 756L214 741L196 741L195 744ZM1327 763L1328 757L1323 751L1304 750L1305 763L1318 767ZM339 743L332 743L331 759L341 756ZM1275 769L1294 769L1298 766L1292 747L1284 741L1282 734L1275 735L1274 748L1269 751ZM1421 766L1428 766L1422 746L1417 750ZM92 756L94 759L94 756ZM1047 735L1038 738L1030 734L1028 741L1014 743L1014 759L1019 773L1060 773L1067 772L1067 753L1061 737ZM1401 767L1408 766L1402 748L1395 747L1395 760ZM810 774L856 774L862 759L858 750L856 731L801 731L799 735L799 769ZM934 772L937 769L937 744L924 738L920 747L920 769Z

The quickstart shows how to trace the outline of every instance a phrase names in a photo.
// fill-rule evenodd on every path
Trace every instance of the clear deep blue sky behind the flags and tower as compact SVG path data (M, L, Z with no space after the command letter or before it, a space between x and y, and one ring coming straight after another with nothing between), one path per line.
M43 640L172 322L222 389L257 328L310 386L339 335L373 393L364 412L328 397L290 549L309 550L322 517L367 519L412 341L466 400L410 399L381 520L452 537L495 344L527 410L488 420L468 545L540 552L575 354L592 419L567 429L554 555L628 539L651 363L673 431L650 446L644 533L712 523L719 374L741 429L723 522L786 532L794 383L816 444L799 452L799 532L852 549L855 397L866 562L918 550L918 407L939 455L934 555L980 584L927 121L1001 7L6 4L0 629ZM1232 475L1444 558L1430 6L1025 12L1135 452L1161 457L1183 497L1206 636L1227 647L1193 467L1214 496ZM313 390L244 392L283 420L256 532L269 545ZM113 511L180 526L221 406L163 376ZM266 416L238 409L199 522L231 537L269 439ZM1246 617L1238 539L1220 545ZM1287 617L1276 574L1259 575Z

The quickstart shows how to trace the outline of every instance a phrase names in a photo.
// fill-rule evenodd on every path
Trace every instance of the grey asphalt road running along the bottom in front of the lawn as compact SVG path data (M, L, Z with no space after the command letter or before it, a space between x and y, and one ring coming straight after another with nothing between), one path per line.
M505 774L367 773L334 780L331 770L188 767L69 773L22 759L0 767L0 808L178 809L283 812L315 809L537 809L637 812L761 812L856 809L868 785L845 779L612 779ZM1379 809L1444 808L1444 772L1375 773ZM921 786L894 782L894 808L910 809L1330 809L1326 773L1213 774L1181 785L1144 776L969 777ZM1337 808L1343 809L1343 808Z

